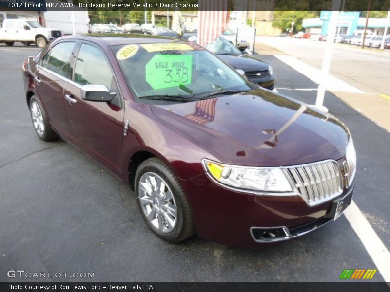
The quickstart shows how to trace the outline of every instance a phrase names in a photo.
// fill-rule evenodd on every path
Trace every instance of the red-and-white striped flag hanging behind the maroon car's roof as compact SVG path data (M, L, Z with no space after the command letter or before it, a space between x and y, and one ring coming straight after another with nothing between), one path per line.
M199 0L197 42L201 46L219 37L229 21L228 0Z

